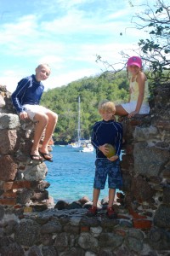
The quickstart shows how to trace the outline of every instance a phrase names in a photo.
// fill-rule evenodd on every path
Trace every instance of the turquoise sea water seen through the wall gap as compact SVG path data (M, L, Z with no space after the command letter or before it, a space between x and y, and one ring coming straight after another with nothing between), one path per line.
M95 152L82 153L74 148L54 146L54 162L46 161L48 175L46 180L50 183L49 195L54 201L77 201L87 195L89 200L93 198L94 185L94 161ZM101 190L99 200L108 195L108 185Z

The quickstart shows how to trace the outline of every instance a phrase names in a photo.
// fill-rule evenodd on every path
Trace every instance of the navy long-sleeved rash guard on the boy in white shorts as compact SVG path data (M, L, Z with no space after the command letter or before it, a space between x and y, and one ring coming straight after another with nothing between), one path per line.
M11 96L16 111L23 112L25 104L39 105L43 90L42 82L37 82L35 75L21 79Z

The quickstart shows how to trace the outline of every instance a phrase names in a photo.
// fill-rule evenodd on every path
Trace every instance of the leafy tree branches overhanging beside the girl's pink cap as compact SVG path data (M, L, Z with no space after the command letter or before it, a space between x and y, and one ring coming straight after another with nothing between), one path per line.
M141 57L146 61L155 83L170 79L170 3L168 2L157 0L153 8L146 4L144 13L136 14L132 19L137 29L149 33L150 38L139 40L139 47L142 50Z

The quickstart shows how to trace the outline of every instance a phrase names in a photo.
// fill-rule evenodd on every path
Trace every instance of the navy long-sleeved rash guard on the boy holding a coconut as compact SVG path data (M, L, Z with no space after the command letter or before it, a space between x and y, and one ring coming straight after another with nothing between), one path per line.
M107 158L105 154L99 150L99 146L105 143L113 145L116 148L116 155L119 156L122 148L122 124L114 120L96 122L94 124L91 140L96 149L96 158Z

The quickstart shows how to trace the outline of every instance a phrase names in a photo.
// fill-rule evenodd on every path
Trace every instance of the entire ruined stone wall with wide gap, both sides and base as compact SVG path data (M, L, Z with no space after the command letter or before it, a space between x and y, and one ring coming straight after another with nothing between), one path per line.
M101 202L95 218L88 200L55 206L45 163L30 160L34 124L20 122L0 87L0 255L170 255L170 88L155 91L150 115L122 118L123 193L116 219Z

